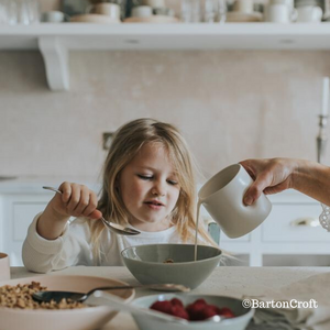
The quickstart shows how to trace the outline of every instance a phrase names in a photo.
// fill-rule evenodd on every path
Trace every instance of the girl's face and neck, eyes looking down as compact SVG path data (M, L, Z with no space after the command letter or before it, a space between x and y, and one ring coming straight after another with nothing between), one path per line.
M130 223L142 231L170 227L180 187L168 153L162 143L145 144L119 176L121 198Z

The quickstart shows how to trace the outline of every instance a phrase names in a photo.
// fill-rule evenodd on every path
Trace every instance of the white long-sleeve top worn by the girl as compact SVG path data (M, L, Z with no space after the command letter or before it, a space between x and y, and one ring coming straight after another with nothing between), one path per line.
M48 273L69 266L96 265L91 253L90 230L85 219L77 218L72 222L67 222L59 238L46 240L38 235L36 231L36 222L40 216L41 213L34 218L29 227L28 235L23 243L22 258L24 266L29 271ZM121 251L130 246L183 243L175 226L158 232L141 231L141 234L132 237L118 235L110 230L105 230L100 240L101 253L105 255L100 266L123 265Z

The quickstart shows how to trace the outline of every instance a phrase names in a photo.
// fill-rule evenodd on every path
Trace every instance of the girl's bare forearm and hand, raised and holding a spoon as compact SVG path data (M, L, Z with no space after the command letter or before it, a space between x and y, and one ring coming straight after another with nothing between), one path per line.
M36 223L37 233L46 240L62 235L70 217L99 219L102 213L97 208L97 196L88 187L78 184L63 183Z

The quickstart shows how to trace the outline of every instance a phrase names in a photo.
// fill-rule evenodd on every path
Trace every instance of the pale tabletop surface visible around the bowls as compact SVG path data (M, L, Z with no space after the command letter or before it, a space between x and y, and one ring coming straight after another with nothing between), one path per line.
M218 267L211 276L194 290L197 294L224 295L240 298L242 295L266 295L270 289L278 289L282 286L307 278L311 275L330 273L329 267ZM89 275L98 277L111 277L129 284L138 284L138 280L125 267L70 267L56 275ZM30 273L23 267L12 267L11 278L22 278L44 274ZM152 290L136 290L136 297L156 294ZM138 327L128 314L120 312L102 330L138 330Z

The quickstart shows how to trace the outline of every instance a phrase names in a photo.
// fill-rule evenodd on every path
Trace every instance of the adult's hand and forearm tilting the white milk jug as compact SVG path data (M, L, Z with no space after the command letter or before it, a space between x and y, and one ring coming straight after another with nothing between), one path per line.
M240 164L254 179L244 196L245 205L252 205L262 191L276 194L288 188L330 205L330 167L328 166L293 158L246 160Z

